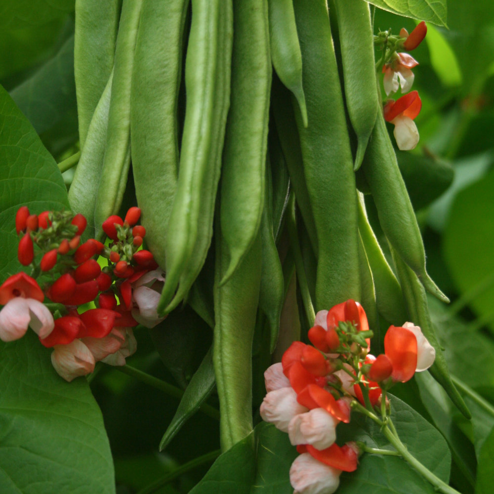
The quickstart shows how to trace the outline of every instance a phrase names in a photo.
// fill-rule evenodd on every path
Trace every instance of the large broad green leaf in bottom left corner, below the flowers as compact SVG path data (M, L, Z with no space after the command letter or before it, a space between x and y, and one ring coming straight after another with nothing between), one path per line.
M65 382L31 330L0 342L0 492L111 494L103 417L85 379Z

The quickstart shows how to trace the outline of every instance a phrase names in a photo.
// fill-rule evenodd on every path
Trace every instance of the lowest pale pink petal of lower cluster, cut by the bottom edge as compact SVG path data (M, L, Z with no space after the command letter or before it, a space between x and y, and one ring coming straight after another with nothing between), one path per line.
M341 470L336 470L309 453L295 458L290 467L293 494L332 494L339 486Z

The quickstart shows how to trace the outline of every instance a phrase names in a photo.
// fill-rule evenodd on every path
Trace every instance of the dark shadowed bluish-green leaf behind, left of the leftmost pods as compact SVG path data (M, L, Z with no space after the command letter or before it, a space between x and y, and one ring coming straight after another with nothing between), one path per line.
M68 111L75 117L77 131L74 36L32 77L13 89L10 96L38 134L53 127Z

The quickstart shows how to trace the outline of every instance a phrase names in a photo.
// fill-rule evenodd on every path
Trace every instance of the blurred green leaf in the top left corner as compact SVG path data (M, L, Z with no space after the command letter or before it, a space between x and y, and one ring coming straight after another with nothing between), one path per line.
M74 10L75 0L0 0L0 28L41 25Z

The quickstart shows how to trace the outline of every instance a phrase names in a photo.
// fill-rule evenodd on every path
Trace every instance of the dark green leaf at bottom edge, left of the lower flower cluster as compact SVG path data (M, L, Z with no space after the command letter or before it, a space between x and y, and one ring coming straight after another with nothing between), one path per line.
M261 422L221 454L189 494L291 494L288 471L296 456L288 434Z

